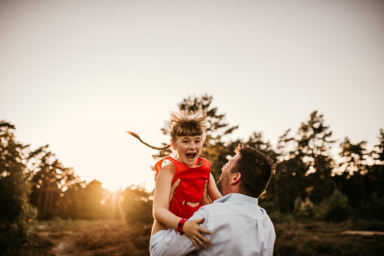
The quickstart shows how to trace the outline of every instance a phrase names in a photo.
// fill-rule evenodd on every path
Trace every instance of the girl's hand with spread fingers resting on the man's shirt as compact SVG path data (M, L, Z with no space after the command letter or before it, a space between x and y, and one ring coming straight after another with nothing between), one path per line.
M194 221L186 221L184 223L182 232L192 241L195 245L196 250L199 249L199 245L201 247L207 248L205 244L210 244L210 241L206 239L202 233L212 234L209 230L206 230L199 226L199 224L203 223L205 218Z

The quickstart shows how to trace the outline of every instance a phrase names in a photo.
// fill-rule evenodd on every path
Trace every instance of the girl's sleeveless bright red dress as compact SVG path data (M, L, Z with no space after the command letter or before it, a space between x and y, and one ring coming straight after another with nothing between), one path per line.
M201 199L204 193L204 183L207 180L209 183L210 177L210 163L207 159L199 157L196 161L196 165L203 161L203 164L192 168L186 166L182 162L176 159L166 156L155 164L156 172L161 169L163 160L169 160L175 165L175 176L172 180L172 184L180 179L180 184L175 190L174 197L169 204L169 211L184 219L189 219L195 211L197 211L203 204ZM191 207L186 202L200 203L196 207Z

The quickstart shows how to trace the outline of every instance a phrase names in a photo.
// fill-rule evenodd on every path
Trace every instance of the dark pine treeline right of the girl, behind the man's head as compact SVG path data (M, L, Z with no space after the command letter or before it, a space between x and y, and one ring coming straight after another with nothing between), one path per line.
M211 101L207 95L188 98L179 108L191 110L196 102L201 102L206 110L209 127L201 156L210 160L216 180L227 156L233 155L234 146L246 142L277 163L267 193L260 200L277 219L281 215L336 222L350 217L384 219L383 129L378 131L378 143L368 150L366 141L332 138L323 115L314 111L297 131L286 130L275 144L258 132L246 140L226 142L238 126L226 123L225 116L217 113ZM162 129L164 134L167 127ZM334 156L334 152L338 155ZM154 157L169 154L172 153L161 152Z

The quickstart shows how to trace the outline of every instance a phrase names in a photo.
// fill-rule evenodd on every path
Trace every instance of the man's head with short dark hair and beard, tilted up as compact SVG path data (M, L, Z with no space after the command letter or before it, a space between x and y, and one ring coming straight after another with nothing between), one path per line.
M259 198L267 188L276 165L270 157L244 143L239 144L234 153L236 155L223 166L217 182L221 194L241 193Z

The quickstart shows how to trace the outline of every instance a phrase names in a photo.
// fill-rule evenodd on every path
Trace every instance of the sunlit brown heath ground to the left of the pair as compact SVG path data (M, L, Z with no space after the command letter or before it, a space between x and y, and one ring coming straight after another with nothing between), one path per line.
M51 221L35 227L39 255L149 255L151 224L130 226L116 220ZM45 248L45 250L44 250Z

